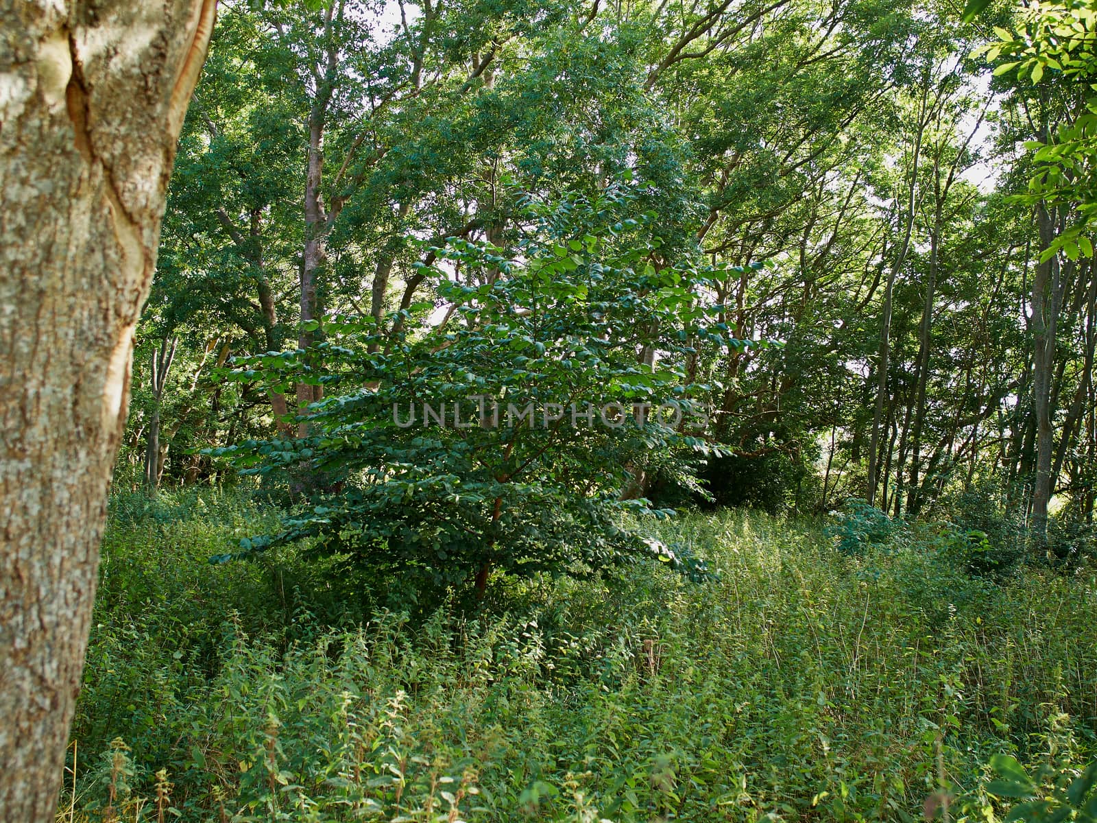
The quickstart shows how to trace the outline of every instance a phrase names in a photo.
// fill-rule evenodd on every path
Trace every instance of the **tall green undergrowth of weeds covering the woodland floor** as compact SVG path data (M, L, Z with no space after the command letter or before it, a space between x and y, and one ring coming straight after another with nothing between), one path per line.
M294 551L206 562L273 517L115 498L58 820L992 820L993 755L1097 756L1093 568L723 511L658 525L717 579L495 580L462 616Z

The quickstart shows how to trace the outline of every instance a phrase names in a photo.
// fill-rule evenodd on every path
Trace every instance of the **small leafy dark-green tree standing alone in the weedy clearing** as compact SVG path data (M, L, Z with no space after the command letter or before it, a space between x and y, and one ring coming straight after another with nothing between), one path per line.
M299 438L214 452L308 488L278 534L214 561L308 538L374 574L479 593L493 570L584 575L645 556L703 578L703 561L642 531L642 518L672 512L629 489L651 455L667 473L667 454L695 486L691 458L722 450L705 438L694 397L713 387L687 380L691 358L756 343L710 323L719 307L699 297L717 272L668 260L652 215L626 216L631 189L524 199L509 253L457 239L430 249L420 273L437 304L384 328L328 317L307 350L237 362L231 379L306 382L325 397L296 418Z

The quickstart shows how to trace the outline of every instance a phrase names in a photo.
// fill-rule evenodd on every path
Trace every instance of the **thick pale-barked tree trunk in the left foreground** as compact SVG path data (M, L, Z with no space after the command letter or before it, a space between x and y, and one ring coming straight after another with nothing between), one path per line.
M0 819L52 823L214 0L0 0Z

